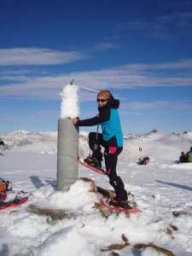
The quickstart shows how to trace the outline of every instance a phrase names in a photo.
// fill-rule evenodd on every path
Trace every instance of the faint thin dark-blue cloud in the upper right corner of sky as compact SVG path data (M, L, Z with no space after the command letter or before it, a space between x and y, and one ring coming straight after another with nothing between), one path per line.
M156 38L166 40L183 38L192 34L192 13L190 11L175 12L170 15L157 16L154 20L140 18L130 22L119 23L114 32L126 32L130 37Z

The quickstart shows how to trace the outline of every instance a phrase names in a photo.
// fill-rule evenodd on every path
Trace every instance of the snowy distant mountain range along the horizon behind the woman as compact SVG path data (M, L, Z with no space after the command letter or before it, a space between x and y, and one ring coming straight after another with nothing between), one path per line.
M28 152L32 154L56 154L57 132L25 130L15 131L1 136L6 150ZM124 150L120 159L138 159L148 155L150 158L166 159L166 152L177 160L181 151L187 152L192 146L192 131L183 133L163 133L153 130L143 135L124 136ZM139 150L142 148L142 151ZM170 154L171 153L171 154ZM90 154L88 132L79 132L79 154L82 157Z

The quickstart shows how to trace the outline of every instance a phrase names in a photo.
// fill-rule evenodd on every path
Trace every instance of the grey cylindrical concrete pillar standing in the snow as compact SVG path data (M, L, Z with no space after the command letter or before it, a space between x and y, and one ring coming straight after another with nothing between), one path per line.
M72 119L59 119L57 138L57 189L66 191L78 180L79 127Z

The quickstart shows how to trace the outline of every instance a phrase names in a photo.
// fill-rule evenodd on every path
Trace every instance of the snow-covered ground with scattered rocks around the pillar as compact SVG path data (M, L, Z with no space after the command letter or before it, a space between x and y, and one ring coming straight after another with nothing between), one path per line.
M129 200L136 201L143 211L130 218L123 212L108 212L108 217L102 217L94 207L95 202L100 203L98 194L88 192L90 183L80 178L68 192L56 191L56 137L49 133L40 143L32 136L30 143L21 143L0 156L0 178L11 181L15 191L9 193L9 199L21 189L30 192L25 204L0 211L1 256L167 255L152 247L135 248L138 243L153 243L170 250L173 254L169 255L192 255L192 163L174 163L181 151L192 146L191 131L127 137L117 170L132 194ZM51 137L49 142L47 137ZM86 140L80 144L81 154L86 154ZM137 165L139 147L143 157L150 158L147 166ZM89 177L96 186L112 189L108 177L84 166L79 166L79 177ZM30 212L31 205L66 212L67 216L51 220ZM173 216L172 211L183 209L189 214ZM125 238L127 246L110 247L125 245Z

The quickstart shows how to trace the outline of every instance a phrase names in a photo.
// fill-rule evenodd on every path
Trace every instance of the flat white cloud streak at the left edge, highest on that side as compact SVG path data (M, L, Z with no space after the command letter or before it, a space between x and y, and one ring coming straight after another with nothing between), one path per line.
M88 58L88 56L81 51L39 48L0 49L0 66L57 65L85 58Z

